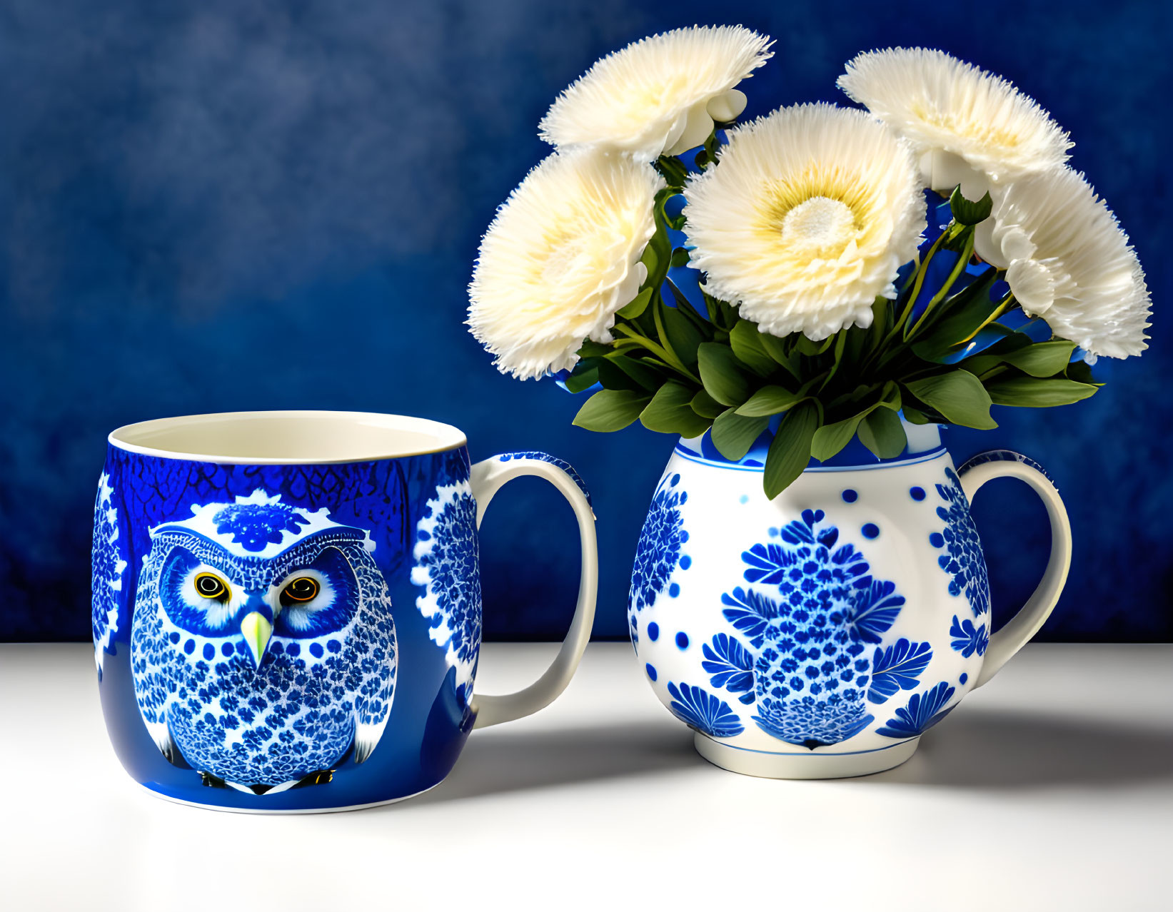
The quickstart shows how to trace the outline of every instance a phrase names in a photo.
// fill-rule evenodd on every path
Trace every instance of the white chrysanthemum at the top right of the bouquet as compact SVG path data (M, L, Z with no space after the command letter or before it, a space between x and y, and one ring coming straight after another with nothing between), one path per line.
M925 183L968 199L990 184L1062 165L1072 143L1010 82L927 48L860 54L839 88L907 138Z

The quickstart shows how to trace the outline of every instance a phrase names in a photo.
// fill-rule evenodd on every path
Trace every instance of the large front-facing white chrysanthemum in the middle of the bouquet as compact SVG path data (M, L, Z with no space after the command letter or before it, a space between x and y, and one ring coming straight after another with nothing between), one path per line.
M924 196L907 143L865 111L782 108L730 132L685 188L690 265L764 332L869 326L916 254Z

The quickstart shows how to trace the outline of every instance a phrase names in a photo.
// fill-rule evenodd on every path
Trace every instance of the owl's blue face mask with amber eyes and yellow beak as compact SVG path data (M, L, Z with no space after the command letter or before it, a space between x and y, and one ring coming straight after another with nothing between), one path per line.
M163 610L188 633L243 640L257 668L272 637L299 640L337 633L358 613L354 570L321 537L303 540L272 560L242 559L206 539L190 545L174 545L163 563Z

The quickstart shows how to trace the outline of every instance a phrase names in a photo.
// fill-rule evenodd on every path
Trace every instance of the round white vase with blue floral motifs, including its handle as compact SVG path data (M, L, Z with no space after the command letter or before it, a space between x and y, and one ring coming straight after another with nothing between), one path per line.
M739 462L682 440L639 539L628 620L647 681L725 769L859 776L921 735L1038 631L1071 563L1067 515L1036 463L1005 450L960 470L936 426L877 460L853 441L772 501L769 434ZM1043 498L1051 556L1030 601L990 633L969 499L1011 476Z

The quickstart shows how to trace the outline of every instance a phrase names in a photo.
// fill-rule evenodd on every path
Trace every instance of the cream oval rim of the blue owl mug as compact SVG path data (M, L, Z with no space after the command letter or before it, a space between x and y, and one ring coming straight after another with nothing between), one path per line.
M198 449L160 445L162 437L198 426L221 426L228 428L235 423L248 424L257 421L305 422L317 420L323 426L333 422L339 428L367 428L377 431L388 431L387 445L355 445L354 452L344 456L319 455L312 451L291 456L262 456L248 452L198 451ZM392 445L395 434L426 436L434 445ZM137 440L136 440L137 437ZM379 462L401 460L408 456L427 456L447 452L468 445L465 433L453 424L446 424L432 418L420 418L413 415L393 415L381 411L345 411L333 409L263 409L256 411L211 411L196 415L175 415L164 418L150 418L123 424L107 435L107 443L115 449L134 452L141 456L155 456L179 462L208 462L221 465L341 465L357 462ZM152 445L154 444L154 445ZM215 450L216 448L209 448ZM323 454L326 450L321 450Z

